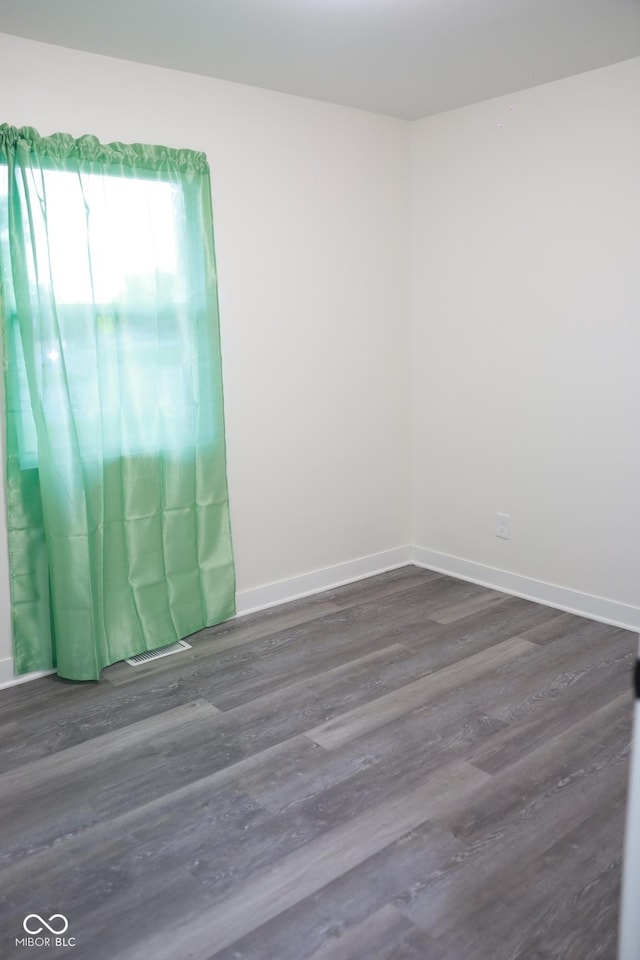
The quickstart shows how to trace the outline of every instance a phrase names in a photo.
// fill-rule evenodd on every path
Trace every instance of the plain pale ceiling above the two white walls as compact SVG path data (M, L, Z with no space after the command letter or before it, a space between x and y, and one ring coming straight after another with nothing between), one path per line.
M413 120L640 56L640 0L0 0L0 31Z

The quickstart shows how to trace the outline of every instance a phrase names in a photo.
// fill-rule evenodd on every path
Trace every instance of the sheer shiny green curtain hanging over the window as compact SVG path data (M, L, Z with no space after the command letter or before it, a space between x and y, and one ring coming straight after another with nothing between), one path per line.
M235 612L204 154L0 126L16 673Z

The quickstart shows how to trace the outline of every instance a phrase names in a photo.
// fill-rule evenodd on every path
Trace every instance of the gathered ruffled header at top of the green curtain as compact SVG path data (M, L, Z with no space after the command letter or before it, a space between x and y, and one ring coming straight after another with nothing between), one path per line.
M21 150L33 154L43 166L47 166L48 162L55 165L70 161L115 167L125 165L156 173L209 173L206 154L196 150L146 143L101 143L91 134L75 138L69 133L53 133L42 137L33 127L0 124L0 157L4 155L8 158Z

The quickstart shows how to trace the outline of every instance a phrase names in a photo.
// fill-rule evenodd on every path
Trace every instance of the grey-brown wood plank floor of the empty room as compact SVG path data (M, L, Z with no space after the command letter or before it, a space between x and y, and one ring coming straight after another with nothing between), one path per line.
M191 642L0 693L2 957L614 960L634 634L404 567Z

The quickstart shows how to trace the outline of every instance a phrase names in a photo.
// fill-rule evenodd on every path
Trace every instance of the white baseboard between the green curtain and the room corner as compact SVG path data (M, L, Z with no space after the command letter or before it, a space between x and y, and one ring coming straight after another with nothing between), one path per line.
M345 583L354 583L373 577L377 573L394 570L411 563L411 547L395 547L383 553L374 553L368 557L359 557L357 560L348 560L333 567L314 570L312 573L303 573L290 580L280 580L268 583L264 587L254 587L252 590L239 590L236 596L237 616L241 617L256 610L274 607L289 600L298 600L313 593L341 587Z

